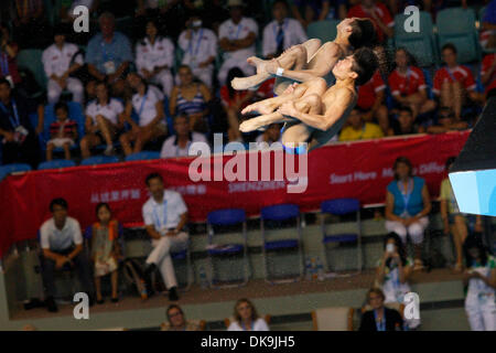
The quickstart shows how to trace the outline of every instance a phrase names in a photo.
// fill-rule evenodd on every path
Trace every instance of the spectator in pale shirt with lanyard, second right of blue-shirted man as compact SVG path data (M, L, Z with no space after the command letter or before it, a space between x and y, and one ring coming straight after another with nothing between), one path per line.
M186 22L186 30L181 32L177 44L184 52L182 64L190 66L193 75L212 89L217 35L194 14Z

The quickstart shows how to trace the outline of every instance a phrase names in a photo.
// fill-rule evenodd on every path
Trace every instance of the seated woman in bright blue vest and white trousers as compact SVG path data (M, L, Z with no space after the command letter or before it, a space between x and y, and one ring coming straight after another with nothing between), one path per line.
M429 224L431 199L425 181L412 175L412 165L408 158L398 157L392 167L395 180L386 193L386 229L398 234L403 245L407 235L414 247L414 269L422 269L423 232Z

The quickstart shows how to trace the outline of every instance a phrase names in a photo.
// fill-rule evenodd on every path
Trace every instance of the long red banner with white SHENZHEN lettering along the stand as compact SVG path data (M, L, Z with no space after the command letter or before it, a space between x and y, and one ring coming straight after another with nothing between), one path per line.
M77 218L83 227L95 222L98 202L108 202L116 218L126 226L141 225L141 206L149 197L144 179L151 172L161 173L166 188L184 196L190 218L195 222L204 221L211 211L228 207L241 207L248 215L257 215L261 207L279 203L295 203L302 211L317 210L322 201L337 197L356 197L362 204L381 203L386 186L392 179L392 163L398 156L406 156L412 161L414 174L424 178L431 195L436 196L441 180L445 176L445 160L459 154L467 137L468 131L465 131L322 147L309 154L308 184L303 193L288 192L289 184L293 182L289 183L287 175L280 181L274 180L282 165L278 165L282 162L282 153L274 152L236 156L238 161L246 159L247 176L252 172L249 156L259 159L269 156L270 164L259 160L258 171L255 171L255 175L260 176L267 172L267 167L273 169L269 181L226 180L235 159L226 156L219 160L214 157L208 159L212 175L216 173L216 167L222 167L217 174L217 179L222 178L219 181L191 180L191 165L198 161L197 158L76 167L11 175L0 183L0 256L14 242L36 237L41 224L51 216L48 204L54 197L67 200L69 215ZM284 167L287 164L285 161ZM204 168L205 164L201 171L205 172Z

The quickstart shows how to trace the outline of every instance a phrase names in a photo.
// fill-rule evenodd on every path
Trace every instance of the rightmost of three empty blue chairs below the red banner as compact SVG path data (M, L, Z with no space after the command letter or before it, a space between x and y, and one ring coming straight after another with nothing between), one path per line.
M327 257L327 245L328 244L343 244L343 243L356 243L356 261L357 261L357 272L362 272L362 223L360 223L360 203L356 199L335 199L322 202L321 212L323 214L331 214L335 216L344 216L352 213L356 214L356 232L355 233L338 233L338 234L327 234L325 217L321 221L322 231L322 243L324 250L324 263L326 270L330 270L328 257Z

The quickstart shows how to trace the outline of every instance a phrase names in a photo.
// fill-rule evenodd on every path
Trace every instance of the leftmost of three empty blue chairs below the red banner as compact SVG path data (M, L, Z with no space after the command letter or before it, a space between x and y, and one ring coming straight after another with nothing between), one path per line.
M214 238L219 238L220 235L215 235L214 227L226 227L241 225L241 239L237 244L216 244ZM207 215L207 233L208 233L208 263L212 269L211 286L213 288L228 288L245 286L248 282L248 245L247 245L247 231L246 231L246 214L245 210L240 208L226 208L218 210L208 213ZM233 267L230 257L242 257L242 278L234 280L220 281L217 276L215 260L222 260L222 258L229 257L229 268ZM226 282L226 284L222 284Z

